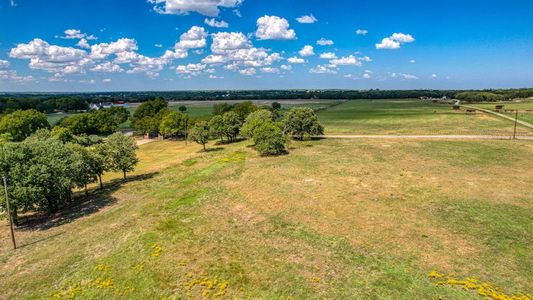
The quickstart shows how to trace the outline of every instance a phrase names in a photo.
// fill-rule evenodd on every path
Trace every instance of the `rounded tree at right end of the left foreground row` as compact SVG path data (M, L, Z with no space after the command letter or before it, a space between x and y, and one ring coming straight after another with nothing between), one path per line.
M106 164L112 171L121 171L126 179L126 173L135 169L139 162L137 158L137 144L132 137L122 133L110 135L103 144L103 152L106 156Z

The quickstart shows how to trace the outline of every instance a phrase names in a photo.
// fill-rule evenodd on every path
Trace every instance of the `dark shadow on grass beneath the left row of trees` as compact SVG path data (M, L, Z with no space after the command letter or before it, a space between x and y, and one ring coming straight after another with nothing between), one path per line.
M75 194L73 201L65 206L61 211L54 214L36 213L20 217L20 225L17 230L47 230L53 227L70 223L81 217L94 214L102 208L117 202L112 194L123 184L134 181L143 181L153 178L157 172L130 176L126 180L115 179L104 185L104 189L93 189L86 197L84 192Z

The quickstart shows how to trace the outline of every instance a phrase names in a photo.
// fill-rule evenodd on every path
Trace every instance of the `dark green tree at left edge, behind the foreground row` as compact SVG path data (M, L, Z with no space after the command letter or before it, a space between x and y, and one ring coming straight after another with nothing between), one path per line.
M50 128L46 115L35 109L19 110L0 119L0 134L20 142L40 128Z

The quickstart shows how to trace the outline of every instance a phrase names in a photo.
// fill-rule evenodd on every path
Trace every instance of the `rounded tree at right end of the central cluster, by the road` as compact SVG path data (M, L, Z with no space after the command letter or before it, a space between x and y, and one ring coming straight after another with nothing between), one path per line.
M295 139L324 134L324 127L318 122L315 112L307 107L295 107L283 118L283 131Z

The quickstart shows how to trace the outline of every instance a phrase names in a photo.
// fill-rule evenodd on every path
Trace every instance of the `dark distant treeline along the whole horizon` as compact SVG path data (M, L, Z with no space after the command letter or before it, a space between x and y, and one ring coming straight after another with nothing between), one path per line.
M283 100L283 99L407 99L462 98L465 101L500 101L533 97L533 88L502 90L233 90L173 92L107 92L69 94L0 95L0 112L36 109L41 112L79 111L90 103L146 102L155 97L167 101L185 100Z

